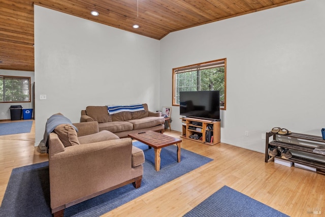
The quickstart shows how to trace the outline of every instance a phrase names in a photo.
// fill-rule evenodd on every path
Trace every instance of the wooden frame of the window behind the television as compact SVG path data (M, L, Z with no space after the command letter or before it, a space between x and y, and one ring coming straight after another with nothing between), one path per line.
M182 70L182 69L186 69L186 68L195 68L195 67L198 67L200 68L200 66L202 65L209 65L209 64L213 64L215 63L217 65L218 62L224 62L224 104L223 106L220 106L220 110L226 110L226 59L227 58L222 58L222 59L216 59L216 60L211 60L211 61L206 61L204 63L199 63L199 64L192 64L192 65L188 65L188 66L183 66L183 67L178 67L178 68L174 68L173 69L173 78L172 78L172 87L173 87L173 90L172 90L172 105L173 106L179 106L179 104L176 103L176 74L178 73L182 73L182 72L176 72L178 70ZM184 72L183 72L184 73Z

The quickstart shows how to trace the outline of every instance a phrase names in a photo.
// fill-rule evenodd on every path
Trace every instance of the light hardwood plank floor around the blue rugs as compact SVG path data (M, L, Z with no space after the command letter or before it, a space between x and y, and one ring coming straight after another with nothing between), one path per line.
M0 136L0 202L13 168L48 160L34 147L34 140L35 123L31 133ZM182 216L223 185L290 216L325 216L325 175L265 163L263 153L224 143L209 146L183 139L181 145L214 161L103 216ZM313 214L314 210L321 214Z

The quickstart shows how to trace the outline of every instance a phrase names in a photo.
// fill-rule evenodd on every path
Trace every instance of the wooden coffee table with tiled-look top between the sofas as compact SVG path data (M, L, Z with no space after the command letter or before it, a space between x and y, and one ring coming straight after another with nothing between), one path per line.
M149 148L154 148L154 165L156 171L160 170L160 152L161 148L176 144L177 145L177 162L181 162L181 142L182 140L176 139L171 136L167 136L161 133L157 133L154 131L146 131L141 133L132 133L128 134L132 139L136 139L146 145Z

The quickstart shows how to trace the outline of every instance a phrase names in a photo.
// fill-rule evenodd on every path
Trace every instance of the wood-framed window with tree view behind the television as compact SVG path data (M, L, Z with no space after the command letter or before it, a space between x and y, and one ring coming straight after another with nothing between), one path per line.
M219 90L220 109L226 108L226 58L173 69L173 105L180 91Z

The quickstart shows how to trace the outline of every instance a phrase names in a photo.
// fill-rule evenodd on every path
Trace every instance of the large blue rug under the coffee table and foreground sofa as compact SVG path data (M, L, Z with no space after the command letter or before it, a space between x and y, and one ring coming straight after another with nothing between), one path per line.
M177 147L161 150L160 171L155 171L154 149L141 142L134 142L145 153L144 173L141 187L125 185L98 197L67 208L64 216L100 216L159 186L178 178L212 161L200 154L181 149L181 162L177 163ZM52 216L50 209L48 162L13 169L0 216Z

